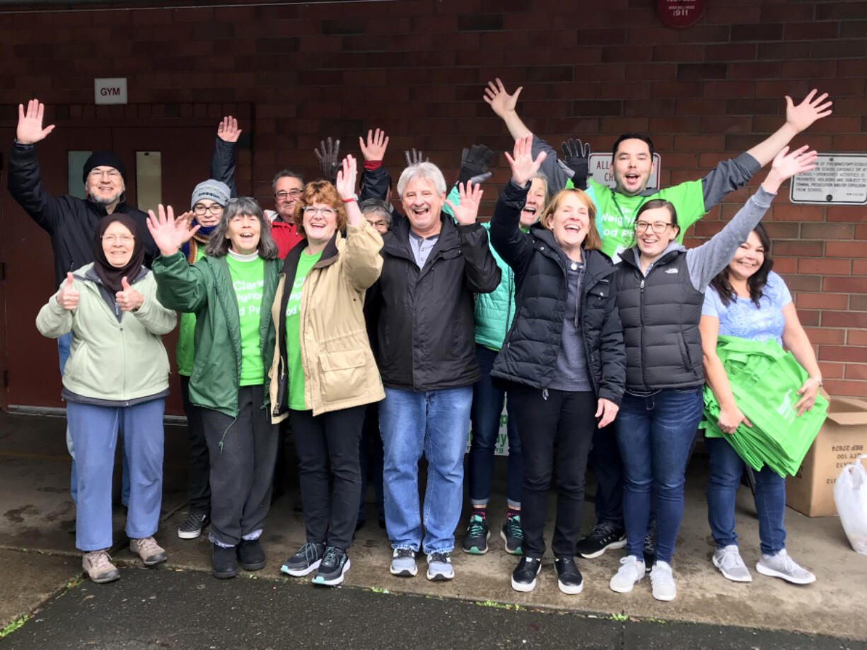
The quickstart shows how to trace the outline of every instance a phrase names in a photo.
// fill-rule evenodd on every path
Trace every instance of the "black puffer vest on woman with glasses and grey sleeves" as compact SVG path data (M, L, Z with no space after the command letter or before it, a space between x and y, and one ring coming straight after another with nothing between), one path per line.
M626 250L614 283L629 393L701 386L699 321L704 294L689 277L686 250L678 247L663 253L646 277L635 248Z

